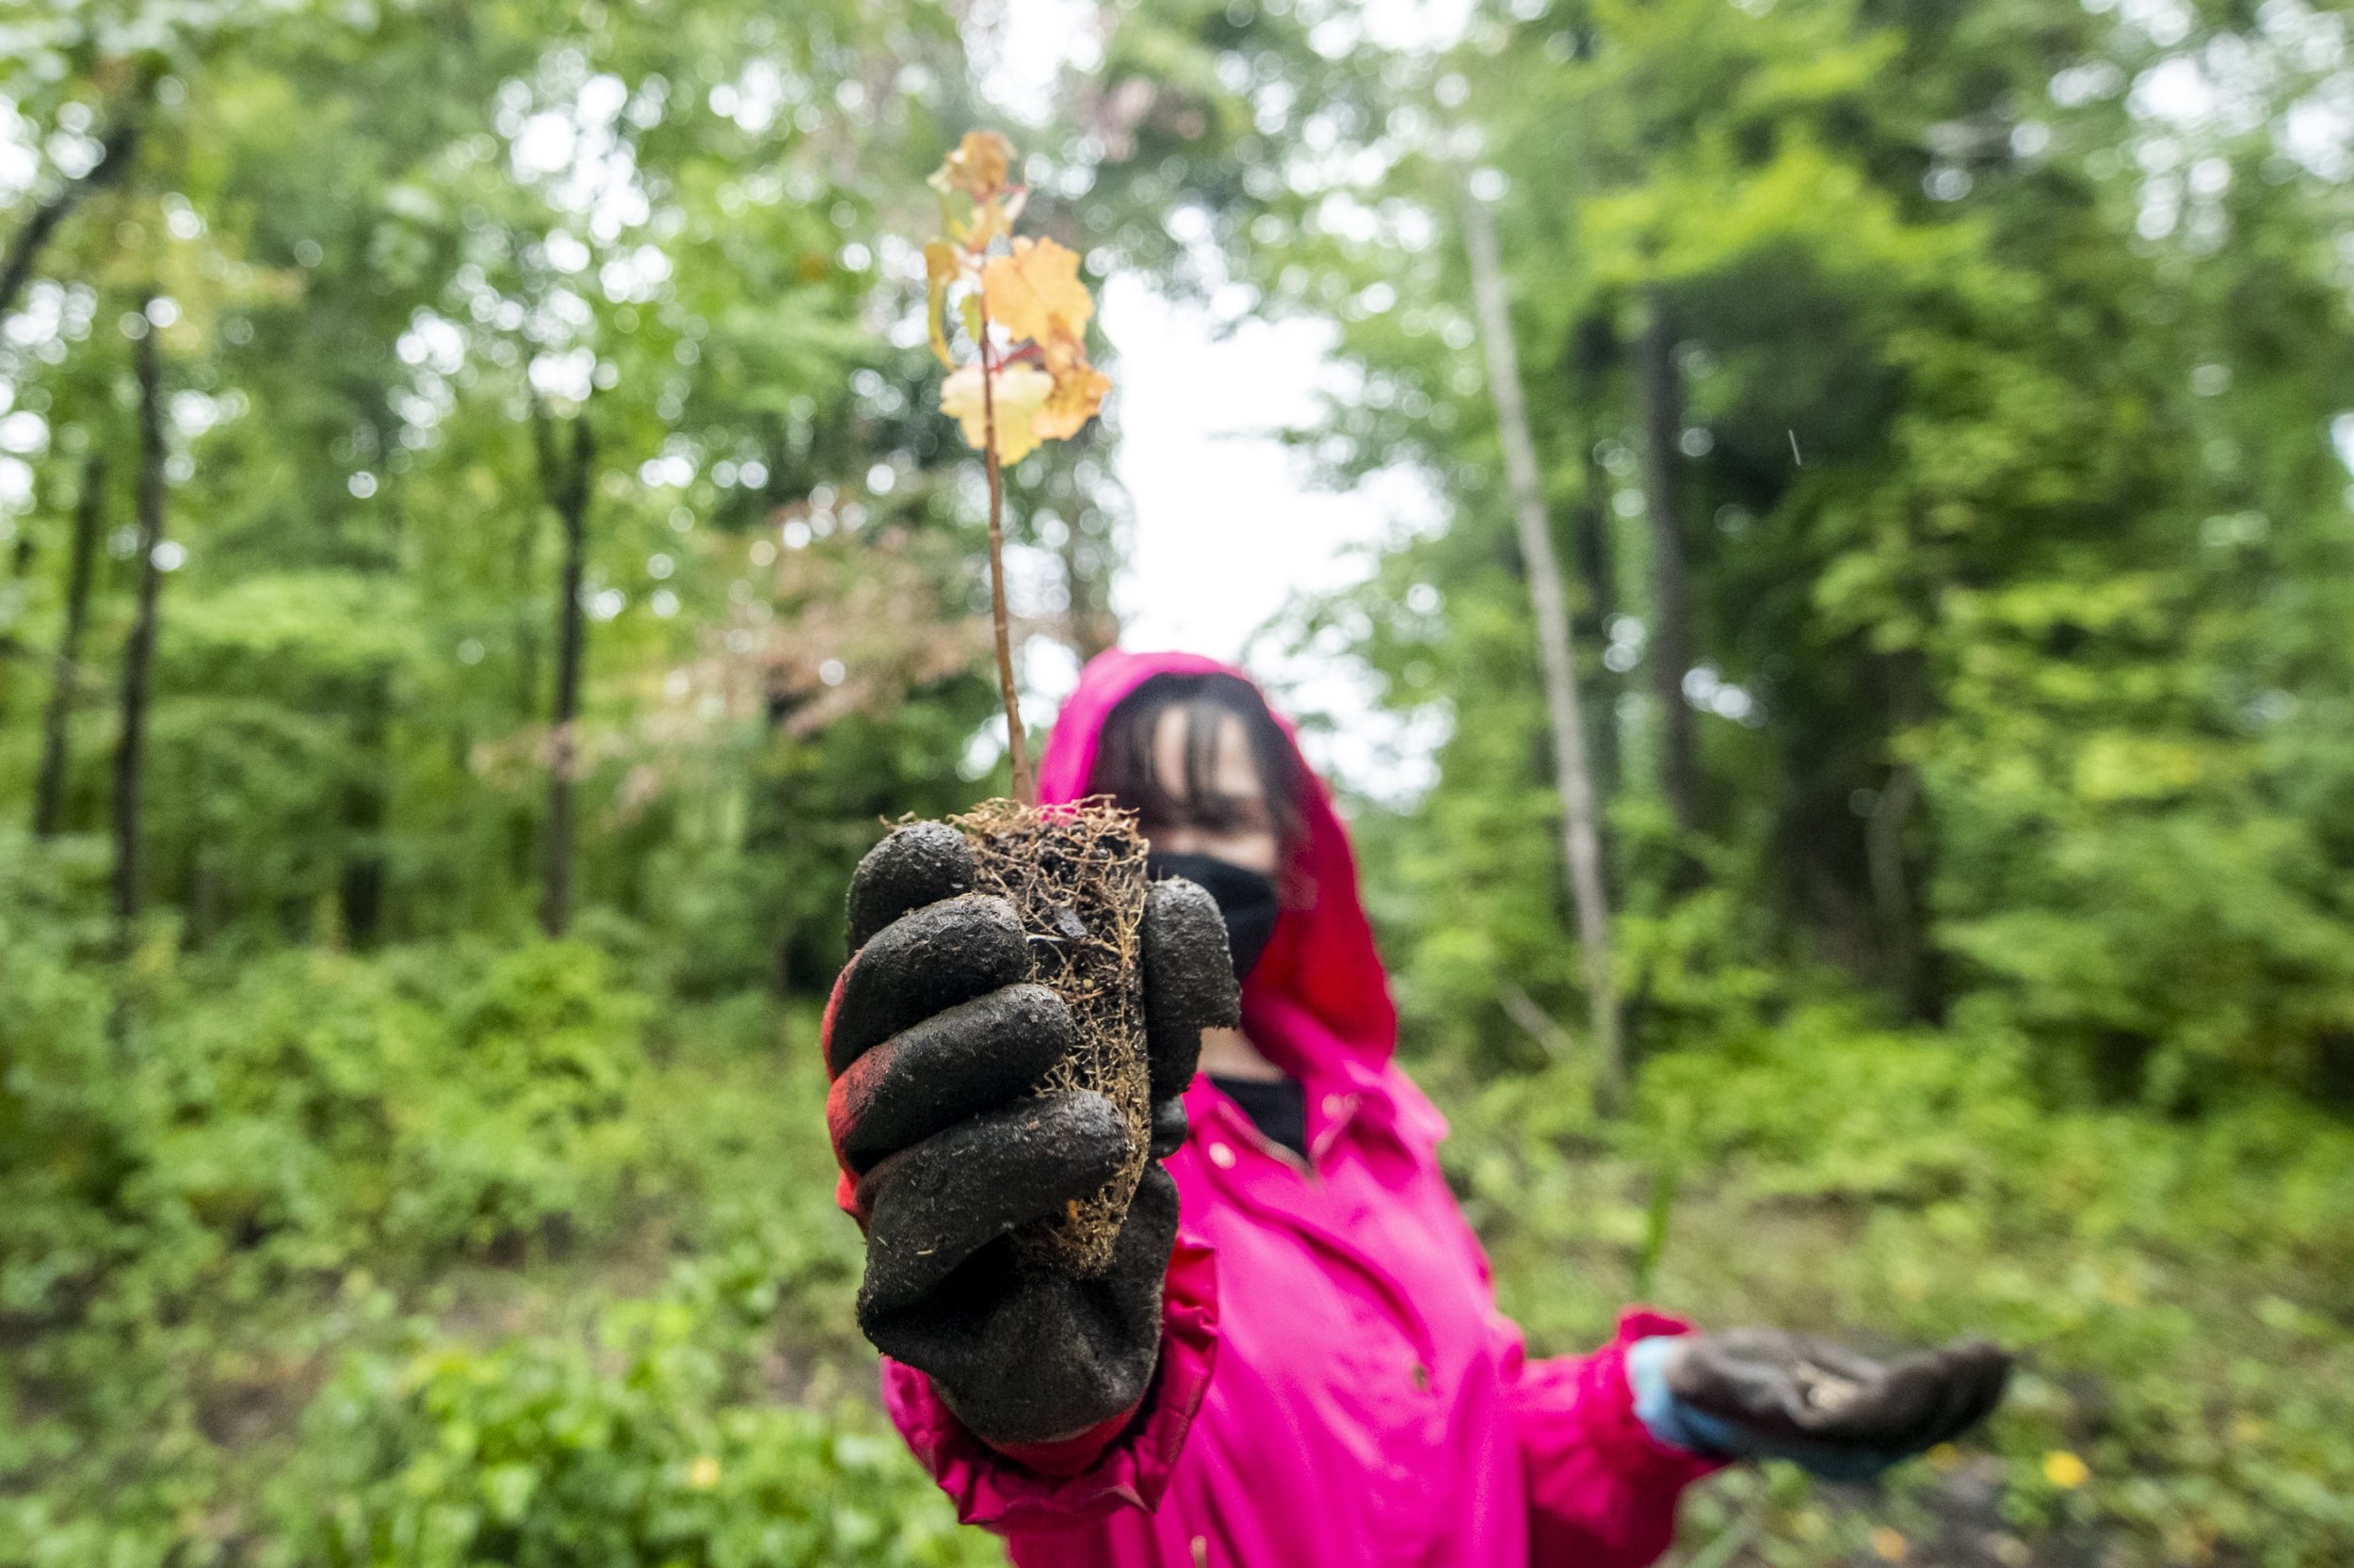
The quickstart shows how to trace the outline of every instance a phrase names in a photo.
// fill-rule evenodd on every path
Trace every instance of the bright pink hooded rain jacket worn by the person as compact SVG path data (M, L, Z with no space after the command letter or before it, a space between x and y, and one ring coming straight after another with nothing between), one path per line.
M1146 676L1222 669L1088 664L1040 798L1085 793L1104 718ZM1438 1170L1445 1121L1389 1059L1396 1012L1339 817L1297 744L1295 765L1306 833L1243 1031L1306 1085L1314 1170L1196 1078L1168 1161L1182 1231L1161 1370L1137 1413L1017 1460L885 1361L892 1420L1022 1568L1650 1563L1711 1467L1636 1420L1624 1349L1683 1323L1629 1311L1594 1356L1523 1356Z

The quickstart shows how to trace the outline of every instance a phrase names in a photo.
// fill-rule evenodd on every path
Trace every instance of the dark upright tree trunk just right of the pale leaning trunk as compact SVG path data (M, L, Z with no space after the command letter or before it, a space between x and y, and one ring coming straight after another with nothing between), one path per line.
M1683 676L1693 669L1693 631L1683 589L1683 525L1676 518L1676 452L1683 438L1683 388L1676 379L1676 332L1667 301L1653 292L1650 320L1636 339L1643 388L1643 490L1650 516L1650 690L1660 704L1660 784L1676 831L1700 826L1700 744Z

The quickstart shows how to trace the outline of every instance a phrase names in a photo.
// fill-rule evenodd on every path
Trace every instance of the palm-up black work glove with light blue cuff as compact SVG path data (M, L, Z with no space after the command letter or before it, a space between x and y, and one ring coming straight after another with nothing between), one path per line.
M2003 1398L2010 1356L1984 1340L1874 1361L1770 1328L1641 1340L1636 1410L1662 1441L1707 1457L1794 1460L1862 1481L1951 1441Z

